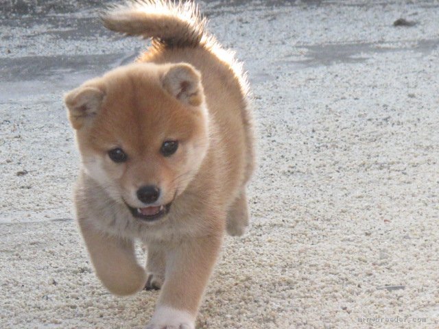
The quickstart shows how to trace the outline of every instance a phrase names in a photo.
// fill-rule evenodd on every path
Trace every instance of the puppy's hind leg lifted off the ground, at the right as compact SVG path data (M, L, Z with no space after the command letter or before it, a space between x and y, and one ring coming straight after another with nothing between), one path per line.
M227 232L231 236L241 236L248 226L248 205L246 191L243 189L227 213Z

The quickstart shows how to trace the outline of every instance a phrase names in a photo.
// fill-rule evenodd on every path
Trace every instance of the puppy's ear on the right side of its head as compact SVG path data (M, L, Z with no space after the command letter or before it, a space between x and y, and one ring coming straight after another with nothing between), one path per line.
M200 106L203 101L201 75L192 65L180 63L169 66L162 77L163 88L182 103Z

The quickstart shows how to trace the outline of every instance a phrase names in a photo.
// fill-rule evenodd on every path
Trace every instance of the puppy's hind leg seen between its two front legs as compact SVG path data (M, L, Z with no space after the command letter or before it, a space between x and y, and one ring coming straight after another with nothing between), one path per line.
M147 281L145 289L161 289L165 281L165 252L160 246L150 243L150 245L147 246L147 254Z

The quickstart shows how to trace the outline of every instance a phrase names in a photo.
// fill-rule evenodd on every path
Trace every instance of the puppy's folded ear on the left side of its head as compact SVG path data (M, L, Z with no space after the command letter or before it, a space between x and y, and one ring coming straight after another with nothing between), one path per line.
M99 112L105 93L93 86L80 86L64 95L64 103L69 110L69 120L75 130L91 122Z

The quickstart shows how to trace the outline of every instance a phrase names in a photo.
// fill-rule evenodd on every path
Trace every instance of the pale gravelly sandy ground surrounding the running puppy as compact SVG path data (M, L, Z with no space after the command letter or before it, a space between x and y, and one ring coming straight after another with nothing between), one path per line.
M0 328L143 328L158 295L105 291L73 221L61 95L144 47L98 2L3 1ZM439 328L438 3L201 8L246 62L260 142L252 227L226 240L198 328Z

